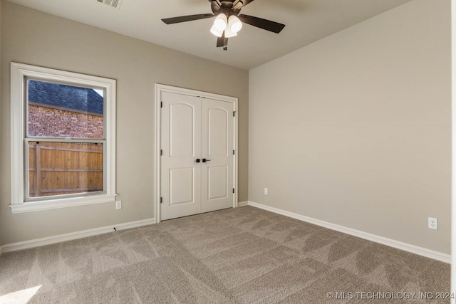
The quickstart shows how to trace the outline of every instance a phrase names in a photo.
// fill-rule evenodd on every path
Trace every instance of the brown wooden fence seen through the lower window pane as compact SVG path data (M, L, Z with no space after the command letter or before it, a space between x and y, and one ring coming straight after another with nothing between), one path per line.
M103 145L30 142L30 197L103 191Z

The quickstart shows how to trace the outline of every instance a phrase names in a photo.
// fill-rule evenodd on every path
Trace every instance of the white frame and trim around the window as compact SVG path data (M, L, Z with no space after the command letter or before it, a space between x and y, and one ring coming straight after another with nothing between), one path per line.
M33 78L49 82L105 90L105 147L103 150L103 193L76 194L68 197L25 200L25 159L26 159L26 79ZM115 201L115 90L116 80L92 75L72 73L35 65L11 62L11 212L66 208L90 204L113 203ZM46 140L43 140L46 141Z

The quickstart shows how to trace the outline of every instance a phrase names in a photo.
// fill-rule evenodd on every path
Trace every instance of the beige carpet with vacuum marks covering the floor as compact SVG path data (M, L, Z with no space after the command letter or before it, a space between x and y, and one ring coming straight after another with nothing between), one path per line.
M449 264L251 206L0 256L2 304L449 303L418 294L449 288Z

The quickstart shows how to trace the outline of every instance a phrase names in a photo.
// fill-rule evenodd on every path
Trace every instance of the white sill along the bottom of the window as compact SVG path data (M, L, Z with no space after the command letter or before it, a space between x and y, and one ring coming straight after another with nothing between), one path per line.
M66 199L50 199L47 201L33 201L23 204L11 204L11 213L18 214L31 211L60 209L74 206L113 203L117 194L97 194L90 196L69 197Z

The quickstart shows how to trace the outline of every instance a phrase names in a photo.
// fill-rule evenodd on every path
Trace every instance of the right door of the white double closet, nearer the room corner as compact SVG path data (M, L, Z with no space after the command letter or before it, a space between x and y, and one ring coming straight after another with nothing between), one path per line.
M233 206L234 105L203 98L201 108L201 210L207 212Z

